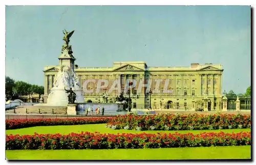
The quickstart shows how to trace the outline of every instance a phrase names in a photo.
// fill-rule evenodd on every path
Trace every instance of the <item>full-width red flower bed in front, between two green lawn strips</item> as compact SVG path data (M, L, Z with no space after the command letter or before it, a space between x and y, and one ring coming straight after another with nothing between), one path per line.
M99 134L97 132L6 135L6 150L119 149L251 145L251 133Z

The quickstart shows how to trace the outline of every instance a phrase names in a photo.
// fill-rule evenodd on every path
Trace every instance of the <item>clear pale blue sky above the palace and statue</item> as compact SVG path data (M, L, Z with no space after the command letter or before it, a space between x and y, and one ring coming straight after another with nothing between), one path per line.
M8 6L6 75L44 85L58 65L62 30L80 67L223 65L223 90L251 85L249 6Z

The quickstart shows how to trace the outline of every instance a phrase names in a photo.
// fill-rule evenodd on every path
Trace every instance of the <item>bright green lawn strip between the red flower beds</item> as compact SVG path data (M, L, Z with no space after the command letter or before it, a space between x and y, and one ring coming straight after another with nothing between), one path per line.
M55 133L60 133L60 134L68 134L71 132L74 133L80 133L81 131L83 132L100 132L100 133L156 133L156 132L163 132L163 133L174 133L174 132L179 132L179 133L201 133L201 132L225 132L225 133L232 133L232 132L241 132L241 131L251 131L250 128L245 128L245 129L218 129L218 130L179 130L179 131L165 131L165 130L146 130L146 131L136 131L136 130L124 130L124 129L119 129L119 130L113 130L110 128L105 128L105 124L85 124L85 125L58 125L58 126L37 126L37 127L29 127L29 128L21 128L21 129L10 129L6 130L6 134L34 134L40 133L40 134L55 134Z

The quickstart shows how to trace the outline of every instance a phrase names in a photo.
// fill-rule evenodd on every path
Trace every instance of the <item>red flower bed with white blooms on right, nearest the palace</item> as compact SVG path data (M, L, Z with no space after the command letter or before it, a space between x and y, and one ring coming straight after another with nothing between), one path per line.
M250 128L251 118L245 115L124 115L113 118L106 125L112 129L135 130L205 130Z

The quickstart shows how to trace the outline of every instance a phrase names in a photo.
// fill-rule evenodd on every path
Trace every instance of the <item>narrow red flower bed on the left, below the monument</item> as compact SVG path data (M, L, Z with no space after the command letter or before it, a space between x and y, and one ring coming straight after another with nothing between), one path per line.
M73 118L73 119L11 119L6 120L6 129L18 129L34 126L79 125L107 123L115 117Z

